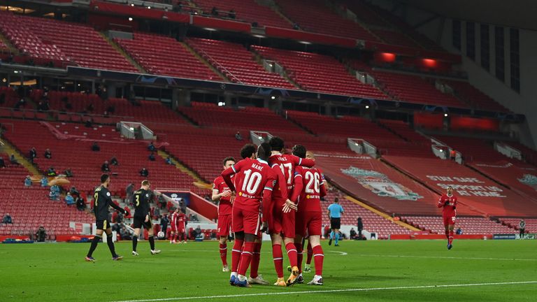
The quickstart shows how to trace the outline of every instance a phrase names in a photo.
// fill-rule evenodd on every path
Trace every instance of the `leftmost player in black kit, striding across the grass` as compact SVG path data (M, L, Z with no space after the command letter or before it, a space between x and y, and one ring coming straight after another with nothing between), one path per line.
M95 261L92 257L94 250L97 247L97 243L103 236L103 231L106 232L106 244L108 244L108 249L112 253L112 260L121 260L122 256L115 253L114 242L112 240L112 229L110 229L110 222L108 221L108 206L115 208L118 212L127 214L127 210L120 208L112 201L112 195L108 191L108 186L110 185L110 176L108 174L101 175L101 185L95 189L93 194L94 198L94 207L93 212L95 214L95 224L96 224L96 234L92 240L92 246L90 251L87 252L86 261Z

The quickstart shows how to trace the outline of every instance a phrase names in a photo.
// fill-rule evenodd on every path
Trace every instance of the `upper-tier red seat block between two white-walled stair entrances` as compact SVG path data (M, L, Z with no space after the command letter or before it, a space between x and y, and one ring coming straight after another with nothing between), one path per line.
M252 49L265 59L282 65L302 89L331 94L387 99L379 89L366 85L352 76L334 57L311 52L278 50L253 45Z

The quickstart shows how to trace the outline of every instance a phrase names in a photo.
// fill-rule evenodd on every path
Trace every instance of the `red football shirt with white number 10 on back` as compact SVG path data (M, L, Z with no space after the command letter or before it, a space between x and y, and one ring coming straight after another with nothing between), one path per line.
M231 175L236 174L235 184ZM264 221L270 215L272 191L277 175L262 159L243 159L222 172L222 178L228 187L236 192L234 207L252 212L262 206Z

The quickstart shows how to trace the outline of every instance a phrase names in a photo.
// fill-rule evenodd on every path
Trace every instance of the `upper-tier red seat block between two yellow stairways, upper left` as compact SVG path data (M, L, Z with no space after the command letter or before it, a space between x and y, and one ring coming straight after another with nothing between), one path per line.
M222 81L175 38L135 32L131 40L116 38L115 41L148 73Z

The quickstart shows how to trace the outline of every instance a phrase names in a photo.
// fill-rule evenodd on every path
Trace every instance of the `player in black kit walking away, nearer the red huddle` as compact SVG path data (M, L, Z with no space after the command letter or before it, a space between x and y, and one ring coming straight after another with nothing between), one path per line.
M149 191L151 184L149 180L143 180L142 186L138 191L134 192L134 236L132 236L132 254L138 256L136 245L138 245L138 236L140 229L143 227L148 230L148 240L151 248L151 254L159 254L160 250L155 250L155 237L153 236L153 224L150 219L149 201L152 192Z

